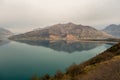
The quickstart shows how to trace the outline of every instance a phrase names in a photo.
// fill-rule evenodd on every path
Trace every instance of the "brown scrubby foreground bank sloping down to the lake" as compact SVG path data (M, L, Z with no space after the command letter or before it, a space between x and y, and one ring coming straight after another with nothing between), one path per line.
M32 80L120 80L120 43L82 64L73 64L66 73Z

